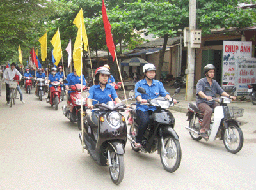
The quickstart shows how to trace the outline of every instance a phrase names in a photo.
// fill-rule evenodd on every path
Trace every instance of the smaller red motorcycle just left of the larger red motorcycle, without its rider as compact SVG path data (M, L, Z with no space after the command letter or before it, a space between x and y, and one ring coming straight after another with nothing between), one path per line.
M51 106L55 106L55 110L58 110L58 105L60 103L60 82L58 81L53 81L51 82L52 87L50 87L50 99L49 103Z

